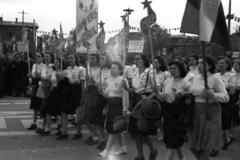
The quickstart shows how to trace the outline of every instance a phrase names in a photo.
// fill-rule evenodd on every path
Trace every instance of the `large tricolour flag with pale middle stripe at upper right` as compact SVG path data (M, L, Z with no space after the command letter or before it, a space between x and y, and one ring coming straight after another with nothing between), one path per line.
M230 38L221 0L188 0L181 25L182 33L231 50Z

